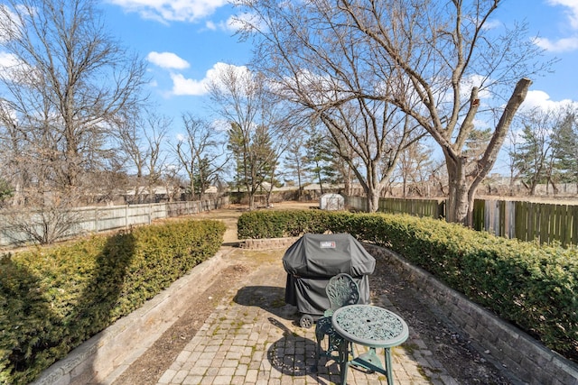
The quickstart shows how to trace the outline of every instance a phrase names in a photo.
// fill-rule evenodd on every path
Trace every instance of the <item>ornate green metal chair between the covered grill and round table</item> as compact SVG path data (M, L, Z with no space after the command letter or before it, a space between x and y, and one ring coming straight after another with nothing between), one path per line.
M332 353L340 353L340 344L343 338L338 335L331 325L331 316L333 312L340 307L355 305L359 302L359 288L357 283L349 274L340 273L331 277L325 288L327 298L329 298L330 308L325 310L323 316L317 320L315 325L315 338L317 340L317 349L315 350L315 368L319 365L319 358L324 355L328 358L337 359L338 362L345 362L342 357L334 356ZM325 335L329 337L327 350L322 351L322 341ZM352 352L353 344L350 344L349 351ZM349 352L348 352L349 353Z

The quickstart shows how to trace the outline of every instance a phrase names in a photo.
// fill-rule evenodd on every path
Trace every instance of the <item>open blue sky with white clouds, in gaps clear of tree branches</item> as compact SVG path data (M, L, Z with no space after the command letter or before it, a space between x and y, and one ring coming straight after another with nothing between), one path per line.
M103 9L111 32L149 61L151 96L175 120L185 111L208 115L204 82L218 63L250 60L226 0L106 0ZM578 0L506 0L492 22L513 20L527 21L545 59L559 59L555 73L533 79L526 105L578 100Z

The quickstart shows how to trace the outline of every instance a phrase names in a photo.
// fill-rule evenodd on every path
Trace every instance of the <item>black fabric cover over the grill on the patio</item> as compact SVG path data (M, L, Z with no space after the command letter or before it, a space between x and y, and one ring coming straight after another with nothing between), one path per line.
M359 303L369 303L368 274L376 260L350 234L305 234L285 252L285 303L300 312L321 316L330 307L325 287L345 272L359 287Z

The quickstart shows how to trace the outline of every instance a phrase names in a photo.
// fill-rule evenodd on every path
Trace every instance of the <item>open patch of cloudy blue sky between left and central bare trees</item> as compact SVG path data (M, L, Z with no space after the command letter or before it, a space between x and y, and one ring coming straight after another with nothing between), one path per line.
M244 66L251 58L226 1L107 0L102 8L111 33L148 61L148 91L176 125L183 112L209 115L205 82L219 63Z

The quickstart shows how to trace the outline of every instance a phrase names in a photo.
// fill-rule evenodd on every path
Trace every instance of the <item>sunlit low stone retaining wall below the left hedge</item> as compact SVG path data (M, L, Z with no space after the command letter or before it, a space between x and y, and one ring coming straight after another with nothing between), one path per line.
M32 385L85 385L112 383L130 363L179 318L198 292L209 286L222 266L223 252L194 267L143 307L120 318L43 371Z

